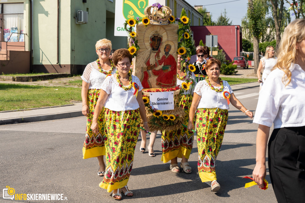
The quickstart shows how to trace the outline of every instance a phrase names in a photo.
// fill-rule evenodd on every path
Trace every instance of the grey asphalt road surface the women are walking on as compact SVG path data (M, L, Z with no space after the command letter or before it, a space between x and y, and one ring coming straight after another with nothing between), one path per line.
M258 88L235 92L242 104L255 113ZM128 187L134 196L124 202L276 202L267 169L269 189L244 188L255 166L257 124L230 106L227 128L216 160L217 193L202 183L197 170L198 149L194 142L189 159L191 174L172 173L162 163L161 135L155 142L156 157L141 153L141 137L135 150ZM115 202L99 187L96 158L82 159L85 117L0 126L0 189L16 194L63 194L62 201L19 202ZM149 136L147 136L149 137ZM196 140L196 137L194 138ZM148 143L148 142L147 142ZM180 160L178 159L178 162ZM11 202L0 197L0 202Z

